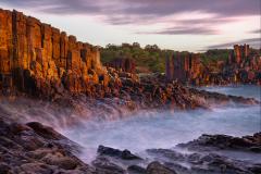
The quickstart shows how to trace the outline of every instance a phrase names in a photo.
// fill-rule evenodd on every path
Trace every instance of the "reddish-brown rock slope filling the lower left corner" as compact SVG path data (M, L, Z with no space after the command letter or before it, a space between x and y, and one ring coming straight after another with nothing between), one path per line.
M94 173L73 152L79 147L40 123L8 123L0 117L0 173Z

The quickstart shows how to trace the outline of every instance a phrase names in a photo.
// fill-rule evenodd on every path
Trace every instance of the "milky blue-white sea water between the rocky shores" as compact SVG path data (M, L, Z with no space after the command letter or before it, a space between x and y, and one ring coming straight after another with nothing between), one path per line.
M204 90L260 100L258 86L208 87ZM116 121L86 121L63 129L70 139L84 147L82 159L95 158L99 145L140 153L151 148L172 148L202 134L245 136L260 132L260 105L232 103L211 110L140 111Z

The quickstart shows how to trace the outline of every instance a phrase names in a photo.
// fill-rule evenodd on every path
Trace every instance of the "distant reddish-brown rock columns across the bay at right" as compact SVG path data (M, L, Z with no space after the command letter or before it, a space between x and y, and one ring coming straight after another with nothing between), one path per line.
M166 80L192 85L261 84L261 57L249 45L234 46L227 61L203 64L199 54L177 53L166 58Z

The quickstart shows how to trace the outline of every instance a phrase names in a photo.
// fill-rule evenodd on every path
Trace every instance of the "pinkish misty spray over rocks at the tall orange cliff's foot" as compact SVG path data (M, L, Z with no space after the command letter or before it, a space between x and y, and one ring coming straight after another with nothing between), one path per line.
M88 120L102 122L119 120L135 112L126 108L124 101L120 99L95 100L87 97L74 98L66 103L26 97L15 100L3 98L0 101L0 111L5 115L12 115L12 119L18 122L39 122L57 130L77 126Z

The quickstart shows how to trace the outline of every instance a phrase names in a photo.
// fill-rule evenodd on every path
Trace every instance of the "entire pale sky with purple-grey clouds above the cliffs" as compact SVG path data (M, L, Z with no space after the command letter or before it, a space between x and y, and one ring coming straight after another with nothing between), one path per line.
M260 47L261 0L0 0L94 45L199 51Z

